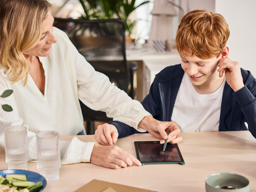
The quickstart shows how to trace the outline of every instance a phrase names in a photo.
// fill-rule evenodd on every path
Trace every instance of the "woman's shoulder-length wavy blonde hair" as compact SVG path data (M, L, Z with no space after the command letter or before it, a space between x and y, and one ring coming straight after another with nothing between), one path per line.
M0 1L0 67L9 81L27 83L30 65L23 52L39 42L50 10L47 0Z

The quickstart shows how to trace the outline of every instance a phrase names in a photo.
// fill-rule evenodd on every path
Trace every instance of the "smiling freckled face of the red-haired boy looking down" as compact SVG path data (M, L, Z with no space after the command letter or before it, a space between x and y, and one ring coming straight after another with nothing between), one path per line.
M218 69L218 63L221 59L219 57L214 57L210 59L200 59L197 56L182 56L181 57L181 67L189 77L190 82L193 84L194 88L210 88L210 86L217 87L220 84L220 77Z

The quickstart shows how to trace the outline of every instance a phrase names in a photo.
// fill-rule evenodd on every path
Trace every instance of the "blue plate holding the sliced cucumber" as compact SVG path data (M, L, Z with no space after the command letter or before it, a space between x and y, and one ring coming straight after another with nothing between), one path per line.
M0 175L2 175L3 177L5 177L6 175L9 175L9 174L27 175L27 180L35 182L35 183L41 181L42 184L43 184L43 188L40 190L40 192L43 191L43 189L46 186L46 179L42 175L40 175L39 173L36 173L36 172L33 172L33 171L19 170L19 169L0 170Z

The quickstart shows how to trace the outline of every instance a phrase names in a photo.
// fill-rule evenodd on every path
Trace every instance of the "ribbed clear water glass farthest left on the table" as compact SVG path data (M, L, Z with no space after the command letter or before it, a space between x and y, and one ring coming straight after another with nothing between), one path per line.
M21 125L5 128L5 161L8 169L28 170L28 130Z

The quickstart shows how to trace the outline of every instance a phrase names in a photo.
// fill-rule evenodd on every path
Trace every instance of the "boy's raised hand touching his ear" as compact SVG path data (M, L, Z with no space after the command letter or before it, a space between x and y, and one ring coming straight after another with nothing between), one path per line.
M227 84L234 90L234 92L244 87L243 78L240 69L240 63L231 60L229 57L225 57L218 63L220 67L219 77L222 77L225 73Z

